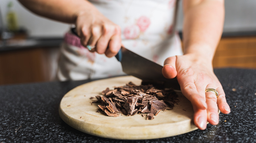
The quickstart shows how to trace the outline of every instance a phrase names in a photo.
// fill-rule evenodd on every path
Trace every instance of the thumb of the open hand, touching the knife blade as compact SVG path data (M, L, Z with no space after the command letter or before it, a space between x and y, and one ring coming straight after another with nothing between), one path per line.
M164 66L162 68L162 74L165 78L174 78L177 75L177 71L176 71L176 56L171 56L168 57L165 61L164 61Z

